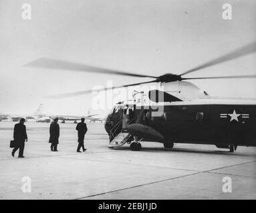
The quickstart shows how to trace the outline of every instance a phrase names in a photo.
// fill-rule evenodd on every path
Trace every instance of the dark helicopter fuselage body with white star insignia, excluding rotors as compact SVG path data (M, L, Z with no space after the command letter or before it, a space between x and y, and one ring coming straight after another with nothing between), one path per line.
M112 126L122 120L120 130L146 141L256 146L255 101L198 99L143 107L121 104L106 120L109 134L110 120Z

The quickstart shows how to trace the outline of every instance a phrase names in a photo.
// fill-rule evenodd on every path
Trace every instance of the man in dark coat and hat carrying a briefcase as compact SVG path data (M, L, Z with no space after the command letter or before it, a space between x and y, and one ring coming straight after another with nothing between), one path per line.
M15 141L15 148L11 152L11 155L14 157L15 152L19 149L19 158L24 158L23 151L25 146L25 141L27 141L27 132L26 126L24 125L25 119L21 118L19 123L15 124L13 131L13 139Z

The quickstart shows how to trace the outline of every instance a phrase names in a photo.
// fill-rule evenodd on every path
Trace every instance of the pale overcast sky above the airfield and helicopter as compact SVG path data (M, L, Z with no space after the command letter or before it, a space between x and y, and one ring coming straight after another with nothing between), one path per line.
M227 2L232 20L222 17ZM21 18L23 3L31 4L31 20ZM182 73L255 41L256 1L1 0L0 27L0 112L32 113L43 103L47 113L86 114L92 95L43 97L106 87L107 80L126 85L149 79L23 65L54 57L154 76ZM187 77L256 74L255 56ZM255 79L191 82L214 96L256 97Z

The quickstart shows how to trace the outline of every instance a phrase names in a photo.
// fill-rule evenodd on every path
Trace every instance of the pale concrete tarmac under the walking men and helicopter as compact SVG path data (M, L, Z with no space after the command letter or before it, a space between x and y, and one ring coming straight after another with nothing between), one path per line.
M0 199L255 199L256 148L235 153L210 145L142 142L109 149L102 123L88 123L78 153L76 124L59 124L59 152L49 149L49 124L25 123L25 158L11 156L13 122L0 122ZM23 192L23 177L31 192ZM232 192L223 192L223 178Z

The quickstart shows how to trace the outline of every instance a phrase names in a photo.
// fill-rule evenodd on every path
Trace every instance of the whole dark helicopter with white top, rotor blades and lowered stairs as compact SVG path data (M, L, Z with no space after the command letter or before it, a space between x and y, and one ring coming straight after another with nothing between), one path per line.
M241 79L256 75L218 77L184 77L201 69L255 53L256 42L203 63L181 74L160 76L104 69L59 59L40 58L25 67L104 73L128 77L151 78L152 81L133 83L98 90L159 83L160 89L134 91L133 100L116 103L108 114L105 129L109 135L109 148L130 144L131 150L141 150L142 141L160 142L164 148L174 143L213 144L230 152L238 146L256 146L256 99L211 97L190 83L193 79ZM67 98L92 93L92 90L51 95Z

